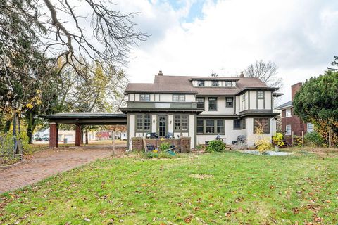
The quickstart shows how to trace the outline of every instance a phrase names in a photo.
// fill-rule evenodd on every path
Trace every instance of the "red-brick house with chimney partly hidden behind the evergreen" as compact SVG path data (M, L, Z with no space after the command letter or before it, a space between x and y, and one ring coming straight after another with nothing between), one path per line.
M301 83L297 83L291 86L291 101L284 103L275 108L275 110L282 110L281 120L282 120L282 133L286 137L286 141L291 143L292 134L296 136L301 136L303 131L304 134L307 132L313 132L313 124L304 123L294 115L294 107L292 101L294 100L294 95L301 88ZM293 133L292 133L293 132Z

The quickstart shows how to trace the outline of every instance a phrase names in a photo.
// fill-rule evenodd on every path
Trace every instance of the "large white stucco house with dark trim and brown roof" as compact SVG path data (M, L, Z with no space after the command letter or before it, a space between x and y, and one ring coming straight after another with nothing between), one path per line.
M164 137L190 136L191 147L220 137L227 144L244 135L253 144L256 127L275 134L273 98L278 88L258 78L166 76L160 71L153 84L130 83L125 95L127 136L155 132Z

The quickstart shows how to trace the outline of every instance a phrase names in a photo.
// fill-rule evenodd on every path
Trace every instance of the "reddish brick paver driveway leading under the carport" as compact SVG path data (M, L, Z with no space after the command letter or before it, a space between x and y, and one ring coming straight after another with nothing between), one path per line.
M119 148L117 152L121 152L125 150L125 145L117 145L116 148ZM107 145L39 151L33 154L32 159L0 171L0 193L34 184L51 175L111 154L112 147Z

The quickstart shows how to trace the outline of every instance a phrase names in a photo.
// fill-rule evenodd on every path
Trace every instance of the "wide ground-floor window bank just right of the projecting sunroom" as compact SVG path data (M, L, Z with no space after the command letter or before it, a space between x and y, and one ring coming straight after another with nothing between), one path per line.
M224 120L198 119L197 134L224 134Z

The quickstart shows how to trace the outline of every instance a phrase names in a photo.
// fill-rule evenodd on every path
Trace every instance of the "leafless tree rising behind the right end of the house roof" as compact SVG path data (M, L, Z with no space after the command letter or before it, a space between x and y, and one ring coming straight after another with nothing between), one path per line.
M244 74L246 77L258 77L268 86L281 88L282 77L277 76L277 69L277 65L273 62L265 63L263 60L256 60L244 70Z

